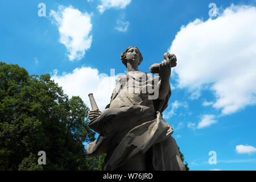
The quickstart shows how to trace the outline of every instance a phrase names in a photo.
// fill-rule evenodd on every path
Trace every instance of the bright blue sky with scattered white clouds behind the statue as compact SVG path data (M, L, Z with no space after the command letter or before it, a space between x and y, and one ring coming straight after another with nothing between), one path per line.
M39 3L46 16L39 16ZM163 114L189 168L256 170L255 5L1 1L0 60L31 75L50 73L68 96L80 96L88 106L92 92L102 110L117 75L126 72L120 54L127 47L140 49L144 72L165 52L175 53L172 96ZM209 164L210 151L216 152L216 164Z

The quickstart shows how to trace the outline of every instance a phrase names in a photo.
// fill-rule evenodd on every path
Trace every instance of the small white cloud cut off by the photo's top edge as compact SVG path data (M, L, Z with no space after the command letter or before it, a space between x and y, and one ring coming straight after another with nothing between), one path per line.
M131 0L101 0L101 5L98 5L98 11L100 13L104 13L106 9L110 9L112 7L118 9L124 9L127 5L129 5Z

